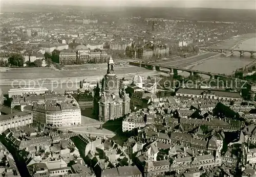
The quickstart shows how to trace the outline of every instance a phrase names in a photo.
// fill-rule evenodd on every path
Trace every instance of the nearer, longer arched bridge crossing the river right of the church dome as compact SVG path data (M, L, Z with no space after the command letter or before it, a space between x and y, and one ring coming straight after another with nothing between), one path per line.
M174 70L177 70L177 71L189 72L190 75L194 75L194 74L208 75L210 77L210 79L215 79L218 77L234 79L231 75L227 75L227 74L218 74L218 73L205 72L205 71L199 71L199 70L194 70L194 69L179 68L179 67L175 67L175 66L164 66L164 65L159 65L159 64L140 63L140 62L130 62L129 64L133 65L133 66L143 67L146 69L162 71L162 72L166 72L166 71L161 70L161 69L168 69L170 75L174 75ZM241 81L241 82L248 82L248 81L244 81L241 79L236 79L236 80ZM248 83L253 84L252 82L248 82Z

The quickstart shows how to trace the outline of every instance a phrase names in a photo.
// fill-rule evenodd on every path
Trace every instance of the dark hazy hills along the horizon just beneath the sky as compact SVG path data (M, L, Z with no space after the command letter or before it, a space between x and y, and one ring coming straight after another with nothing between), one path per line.
M211 9L211 8L172 8L172 7L86 7L67 5L30 5L30 4L2 4L2 12L56 12L72 9L74 12L92 11L94 14L106 13L110 15L141 16L147 18L185 18L191 20L216 21L252 21L255 22L256 10Z

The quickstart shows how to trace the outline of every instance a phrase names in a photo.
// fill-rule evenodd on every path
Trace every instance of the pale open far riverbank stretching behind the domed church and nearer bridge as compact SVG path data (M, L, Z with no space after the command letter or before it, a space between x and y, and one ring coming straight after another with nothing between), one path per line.
M241 41L245 41L248 38L254 37L255 34L246 34L243 36L233 37L229 40L222 41L216 44L216 48L232 48L237 47ZM210 56L210 54L214 56ZM173 61L167 62L166 60L160 63L165 63L169 66L177 66L184 68L192 68L205 63L206 61L212 60L212 58L218 57L218 54L205 53L196 57L188 59L177 60L174 58ZM201 59L202 58L202 59ZM214 66L210 66L214 67ZM217 66L219 67L219 66ZM197 69L204 70L204 69ZM147 77L148 75L157 75L161 72L150 71L145 68L133 67L133 66L115 66L115 72L118 77L131 79L137 72ZM45 69L8 69L8 71L2 71L0 73L0 86L18 86L18 85L57 85L65 83L79 83L81 80L97 81L102 79L106 73L106 64L90 65L89 66L67 66L65 70L51 70L51 68ZM214 73L214 72L213 72ZM220 72L221 73L221 72Z

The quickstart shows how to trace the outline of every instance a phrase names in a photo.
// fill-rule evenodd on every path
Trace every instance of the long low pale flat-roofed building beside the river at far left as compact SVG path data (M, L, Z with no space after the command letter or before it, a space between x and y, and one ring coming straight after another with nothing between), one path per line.
M14 83L15 84L15 83ZM11 98L13 95L20 95L23 96L24 94L44 94L46 91L49 91L48 88L45 87L27 87L27 88L16 88L16 89L10 89L8 91L9 98Z

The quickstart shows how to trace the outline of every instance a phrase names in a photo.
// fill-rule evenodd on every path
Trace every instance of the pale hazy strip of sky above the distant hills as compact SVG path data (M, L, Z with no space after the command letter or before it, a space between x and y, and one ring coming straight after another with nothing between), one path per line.
M163 6L163 7L199 7L227 9L255 9L256 0L0 0L2 3L29 3L49 5L79 5L79 6Z

